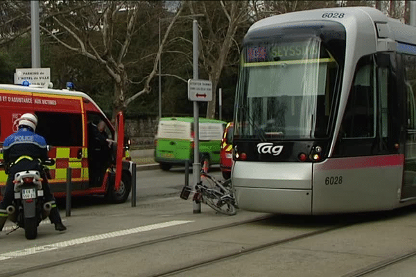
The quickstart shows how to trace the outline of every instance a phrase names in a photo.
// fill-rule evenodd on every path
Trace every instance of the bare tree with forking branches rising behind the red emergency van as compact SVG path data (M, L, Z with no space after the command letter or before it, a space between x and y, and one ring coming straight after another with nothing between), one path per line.
M141 90L126 97L131 82L126 64L132 63L129 48L132 37L137 36L139 29L138 15L143 10L151 10L152 1L75 1L76 5L94 3L76 12L65 13L60 2L49 2L51 23L41 26L42 30L53 37L62 46L83 55L102 66L107 75L114 80L113 116L123 111L143 93L150 91L150 82L157 75L157 62L166 42L166 37L177 17L180 16L182 5L175 13L162 39L161 47L153 60L153 69L146 75ZM62 10L62 14L58 11ZM157 16L157 15L156 15ZM155 21L157 17L153 18ZM119 28L124 24L123 28ZM121 31L123 30L123 33Z

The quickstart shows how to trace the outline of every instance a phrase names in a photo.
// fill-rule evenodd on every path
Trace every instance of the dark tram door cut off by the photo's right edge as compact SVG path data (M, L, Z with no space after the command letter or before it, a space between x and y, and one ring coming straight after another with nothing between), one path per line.
M407 97L406 152L401 199L416 197L416 56L403 55Z

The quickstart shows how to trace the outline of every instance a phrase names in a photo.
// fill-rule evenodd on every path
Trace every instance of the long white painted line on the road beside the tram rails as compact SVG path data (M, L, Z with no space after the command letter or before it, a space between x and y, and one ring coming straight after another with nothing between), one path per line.
M155 229L162 229L162 228L175 226L175 225L180 225L180 224L186 224L186 223L190 223L190 222L193 222L193 220L173 220L173 221L169 221L169 222L151 224L151 225L141 226L141 227L132 228L132 229L125 229L125 230L114 231L114 232L110 232L110 233L103 233L101 235L90 235L90 236L84 237L84 238L76 238L76 239L73 239L73 240L67 240L66 242L56 242L56 243L47 244L47 245L44 245L44 246L41 246L41 247L32 247L32 248L19 250L19 251L12 251L12 252L8 252L8 253L3 253L3 254L0 254L0 260L8 260L8 259L11 259L11 258L17 258L17 257L22 257L22 256L35 254L35 253L51 251L51 250L60 249L60 248L63 248L63 247L70 247L70 246L77 245L77 244L83 244L83 243L87 243L87 242L95 242L97 240L104 240L106 238L116 238L116 237L119 237L121 235L131 235L133 233L141 233L141 232L151 231L151 230L155 230Z

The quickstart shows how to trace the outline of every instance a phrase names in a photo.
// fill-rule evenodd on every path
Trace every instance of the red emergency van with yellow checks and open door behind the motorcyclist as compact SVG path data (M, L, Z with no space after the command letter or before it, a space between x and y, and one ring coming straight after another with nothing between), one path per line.
M71 168L71 195L106 195L110 202L122 203L128 198L132 185L132 162L124 141L123 114L117 116L116 130L86 93L70 89L46 89L14 84L0 84L0 144L17 131L15 120L21 114L33 113L38 118L35 132L44 136L52 146L49 157L49 180L55 197L64 197L67 170ZM109 139L118 141L112 149L114 159L98 184L90 181L91 166L88 155L88 124L105 122ZM123 158L122 160L122 157ZM0 154L0 161L3 154ZM6 189L7 175L0 170L0 194ZM0 195L1 198L1 195Z

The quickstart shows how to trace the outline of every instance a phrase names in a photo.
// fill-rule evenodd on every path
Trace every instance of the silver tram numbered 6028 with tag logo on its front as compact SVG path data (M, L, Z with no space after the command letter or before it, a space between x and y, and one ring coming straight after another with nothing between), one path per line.
M291 12L244 37L232 182L248 211L416 203L416 28L369 7Z

